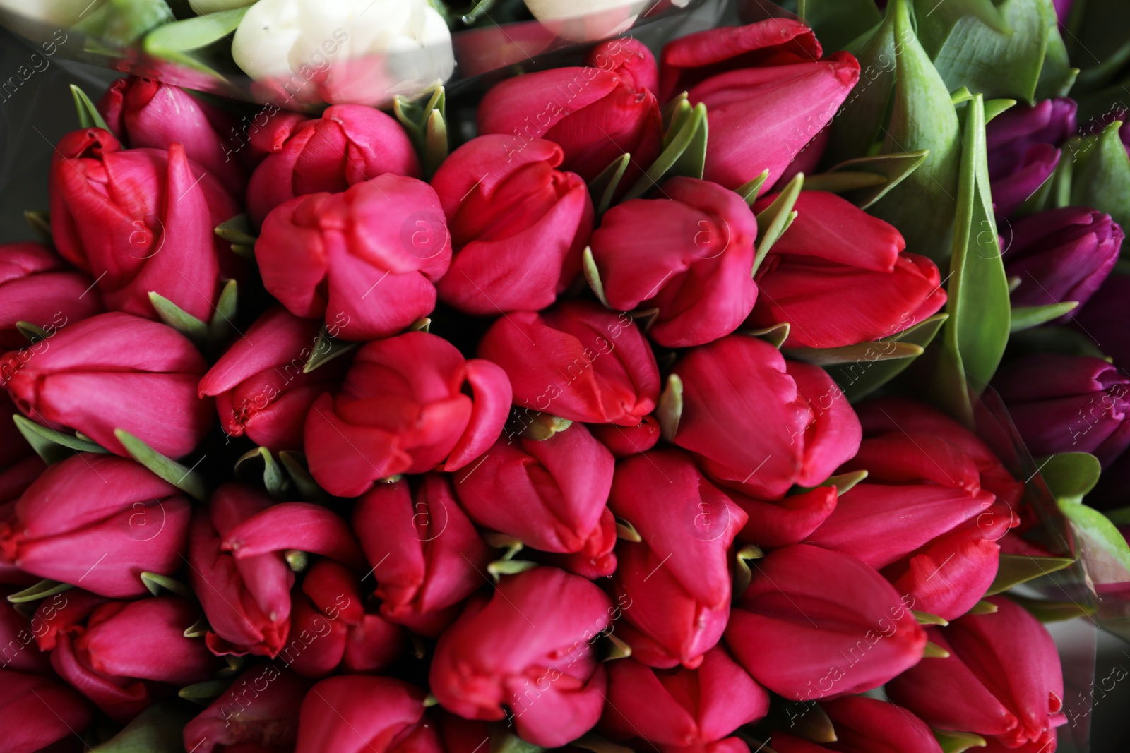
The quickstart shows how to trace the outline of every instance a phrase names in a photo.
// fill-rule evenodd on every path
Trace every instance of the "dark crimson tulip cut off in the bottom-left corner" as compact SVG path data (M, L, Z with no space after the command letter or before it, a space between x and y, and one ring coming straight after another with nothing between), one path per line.
M94 721L90 704L53 677L0 671L0 712L5 753L34 753L85 730Z

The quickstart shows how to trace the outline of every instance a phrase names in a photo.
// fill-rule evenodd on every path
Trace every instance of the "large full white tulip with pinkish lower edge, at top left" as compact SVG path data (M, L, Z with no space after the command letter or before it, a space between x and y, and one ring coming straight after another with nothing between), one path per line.
M232 55L258 81L330 104L411 97L455 69L451 33L428 0L259 0Z

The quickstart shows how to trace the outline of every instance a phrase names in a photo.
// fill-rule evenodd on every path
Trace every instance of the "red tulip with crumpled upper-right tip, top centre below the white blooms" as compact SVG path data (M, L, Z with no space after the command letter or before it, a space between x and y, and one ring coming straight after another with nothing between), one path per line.
M546 139L565 151L564 168L586 182L621 154L632 163L624 191L659 156L663 129L655 89L655 59L636 40L593 47L584 67L525 73L495 85L479 103L479 133Z

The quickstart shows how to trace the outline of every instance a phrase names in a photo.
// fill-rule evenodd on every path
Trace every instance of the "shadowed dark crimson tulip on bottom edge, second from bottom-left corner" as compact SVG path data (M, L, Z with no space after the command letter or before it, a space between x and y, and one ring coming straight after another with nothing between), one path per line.
M298 708L310 682L273 664L252 667L184 727L184 750L212 753L232 746L293 746ZM236 748L238 750L238 748Z

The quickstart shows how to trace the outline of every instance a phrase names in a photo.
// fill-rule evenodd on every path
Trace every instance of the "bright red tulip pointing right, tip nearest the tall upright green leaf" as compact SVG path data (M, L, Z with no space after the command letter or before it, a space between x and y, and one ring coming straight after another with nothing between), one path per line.
M757 272L754 327L788 322L786 347L840 348L897 334L945 305L938 266L905 253L893 226L823 191L802 191L796 208Z

